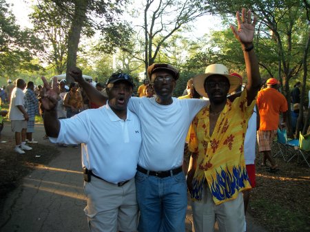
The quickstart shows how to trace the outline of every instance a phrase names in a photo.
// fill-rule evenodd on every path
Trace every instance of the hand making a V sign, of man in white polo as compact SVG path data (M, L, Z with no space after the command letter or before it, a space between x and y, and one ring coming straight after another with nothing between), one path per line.
M42 91L40 92L41 96L41 106L43 109L46 110L51 110L55 109L57 103L58 103L58 98L59 98L59 87L57 83L57 78L54 76L53 81L52 81L52 87L48 84L48 81L44 76L41 76L41 79L43 81L43 88Z

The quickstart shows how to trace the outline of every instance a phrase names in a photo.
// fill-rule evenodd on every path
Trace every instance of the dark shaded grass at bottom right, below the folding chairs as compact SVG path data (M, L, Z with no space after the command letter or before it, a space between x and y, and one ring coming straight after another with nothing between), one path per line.
M249 213L269 232L310 231L310 169L304 163L276 158L278 173L269 173L256 158L256 188Z

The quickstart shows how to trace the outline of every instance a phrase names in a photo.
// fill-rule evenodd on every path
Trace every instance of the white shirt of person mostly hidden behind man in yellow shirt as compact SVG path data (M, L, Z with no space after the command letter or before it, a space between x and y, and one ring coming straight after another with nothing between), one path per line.
M255 163L255 148L256 148L256 107L254 112L249 118L247 124L247 132L245 133L245 165L254 165Z

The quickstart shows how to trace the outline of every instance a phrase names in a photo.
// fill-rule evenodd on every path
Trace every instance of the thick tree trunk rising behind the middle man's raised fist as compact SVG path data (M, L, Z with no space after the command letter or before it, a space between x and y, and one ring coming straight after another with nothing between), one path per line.
M76 66L76 54L79 48L79 41L81 38L81 30L86 19L87 4L89 0L76 0L74 6L74 15L72 17L72 24L68 36L68 59L66 80L67 83L74 81L68 74L71 67Z

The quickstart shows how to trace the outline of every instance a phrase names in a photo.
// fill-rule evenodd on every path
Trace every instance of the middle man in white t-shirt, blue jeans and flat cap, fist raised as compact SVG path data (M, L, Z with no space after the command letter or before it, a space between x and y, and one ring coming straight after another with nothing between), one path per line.
M104 96L71 72L90 101L103 105ZM153 98L132 97L128 109L141 120L142 146L136 173L137 201L141 211L139 232L185 232L187 184L183 172L185 137L192 119L208 101L172 98L179 72L172 65L155 63L147 76Z

